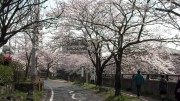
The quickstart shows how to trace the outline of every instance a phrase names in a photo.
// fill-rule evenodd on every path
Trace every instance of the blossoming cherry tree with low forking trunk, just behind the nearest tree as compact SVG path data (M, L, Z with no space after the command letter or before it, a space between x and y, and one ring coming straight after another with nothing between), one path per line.
M101 2L97 2L96 0L70 1L65 6L60 27L62 28L62 26L65 26L66 28L68 28L68 35L84 41L84 46L87 47L87 53L91 59L93 66L96 68L96 84L102 85L102 73L112 55L107 57L102 56L104 51L103 48L107 48L104 46L105 43L101 38L101 36L104 35L103 33L105 32L105 30L85 22L86 19L93 20L95 18L94 21L98 21L99 19L101 19L101 17L103 17L99 16L97 13L98 9L101 10L101 7L103 7L102 5L98 5L98 3Z

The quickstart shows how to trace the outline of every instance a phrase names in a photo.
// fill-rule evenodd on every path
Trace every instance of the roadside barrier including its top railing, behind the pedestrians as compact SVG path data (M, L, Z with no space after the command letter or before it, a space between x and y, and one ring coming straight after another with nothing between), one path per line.
M160 79L160 74L142 74L143 77L145 78L145 83L142 86L142 92L145 94L149 94L154 97L159 96L159 79ZM86 76L86 75L85 75ZM121 75L121 86L125 90L131 90L131 91L136 91L135 87L135 82L133 80L133 77L135 74L122 74ZM175 101L174 98L174 90L176 86L176 81L178 79L179 75L165 75L167 81L168 81L168 93L167 93L167 98ZM70 81L82 81L83 79L81 76L69 76L68 77ZM87 83L90 83L90 79L86 80L84 77L84 82L86 81ZM103 86L107 87L114 87L115 83L115 75L114 74L103 74L103 80L102 84Z

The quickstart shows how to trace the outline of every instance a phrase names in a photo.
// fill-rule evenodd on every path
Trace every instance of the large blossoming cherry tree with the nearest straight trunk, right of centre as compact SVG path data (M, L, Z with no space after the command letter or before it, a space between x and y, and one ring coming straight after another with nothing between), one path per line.
M68 8L71 11L65 14L70 16L71 23L76 23L74 28L84 28L86 33L89 29L95 33L99 31L97 29L104 31L103 34L98 35L104 42L107 42L116 63L115 95L119 95L121 90L120 75L124 52L135 45L149 41L174 42L179 40L178 37L163 37L162 34L154 34L151 25L160 21L158 16L153 15L156 7L154 1L102 0L93 2L89 0L80 2L73 0L71 3L70 6L74 9ZM90 7L93 8L89 9ZM84 26L82 27L82 25ZM90 38L92 39L92 37ZM97 42L100 41L98 39Z

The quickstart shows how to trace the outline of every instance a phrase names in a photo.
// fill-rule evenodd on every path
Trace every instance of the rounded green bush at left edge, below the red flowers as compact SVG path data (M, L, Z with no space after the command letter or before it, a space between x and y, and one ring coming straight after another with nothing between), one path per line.
M0 84L11 83L13 81L13 69L9 66L0 65Z

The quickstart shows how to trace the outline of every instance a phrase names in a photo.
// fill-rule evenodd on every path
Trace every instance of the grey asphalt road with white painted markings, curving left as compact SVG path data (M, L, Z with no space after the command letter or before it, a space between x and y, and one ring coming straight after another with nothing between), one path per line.
M78 86L63 81L44 81L48 90L45 101L104 101L103 98Z

